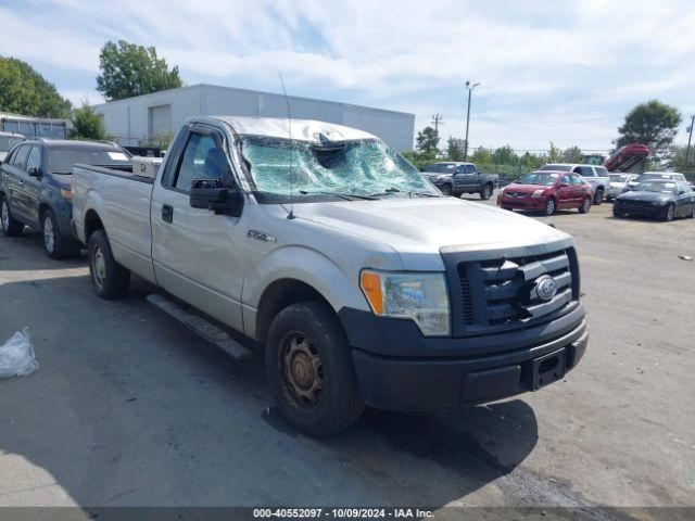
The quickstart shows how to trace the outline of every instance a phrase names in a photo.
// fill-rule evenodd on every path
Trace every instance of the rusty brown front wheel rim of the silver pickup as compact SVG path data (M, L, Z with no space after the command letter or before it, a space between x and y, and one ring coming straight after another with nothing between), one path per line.
M288 335L282 365L292 402L305 409L318 407L324 394L324 367L311 339L299 332Z

